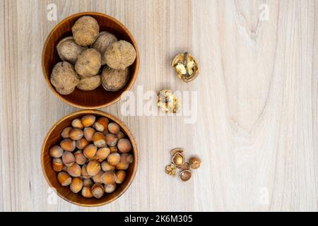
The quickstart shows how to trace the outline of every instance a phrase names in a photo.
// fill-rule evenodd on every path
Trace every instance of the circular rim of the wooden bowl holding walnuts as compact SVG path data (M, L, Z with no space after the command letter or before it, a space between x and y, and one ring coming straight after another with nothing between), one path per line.
M49 41L49 37L52 36L53 32L55 32L58 28L59 28L59 25L61 25L61 23L64 23L66 22L67 20L70 20L71 18L74 18L74 17L78 17L78 16L102 16L102 17L105 17L107 19L110 19L112 21L114 21L114 23L117 23L120 27L122 27L122 29L127 33L127 35L129 36L129 38L131 39L131 42L132 44L134 45L134 48L136 49L136 69L134 71L134 74L131 78L131 82L127 85L127 87L122 91L122 94L128 90L131 89L131 87L134 85L135 81L136 81L136 78L138 76L138 72L139 72L139 64L140 64L140 59L139 59L139 49L138 49L138 46L137 46L137 43L134 39L134 36L131 35L131 32L128 30L128 28L126 28L126 26L121 23L119 20L113 18L112 16L109 16L105 13L99 13L99 12L93 12L93 11L87 11L87 12L81 12L81 13L75 13L75 14L72 14L71 16L68 16L66 18L64 18L63 20L61 20L59 23L57 23L57 25L54 26L54 28L51 30L51 32L49 32L49 35L47 35L47 38L45 39L45 43L43 44L43 47L42 47L42 59L41 59L41 63L42 63L42 74L45 78L45 81L47 82L47 85L49 85L49 88L53 91L53 93L55 95L57 95L57 97L59 97L60 100L66 102L67 104L73 106L73 107L78 107L78 108L81 108L81 109L100 109L102 107L108 107L112 104L114 104L115 102L119 101L120 98L122 97L122 94L119 95L117 98L115 98L114 100L110 101L110 102L107 102L105 104L102 104L102 105L95 105L95 106L84 106L84 105L78 105L76 103L73 103L73 102L70 102L69 100L66 100L63 95L57 93L57 90L55 90L55 88L53 87L53 85L51 84L51 82L49 81L49 75L47 75L47 73L45 72L45 60L44 60L44 56L45 56L45 49L47 49L47 44L48 44L48 41Z

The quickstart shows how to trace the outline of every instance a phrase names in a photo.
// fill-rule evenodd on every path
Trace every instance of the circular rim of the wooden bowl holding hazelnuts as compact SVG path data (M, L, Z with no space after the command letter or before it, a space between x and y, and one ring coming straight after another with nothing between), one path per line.
M107 117L108 119L111 119L112 121L116 122L117 124L119 124L119 126L124 129L126 135L129 137L129 140L131 141L131 145L133 145L133 150L134 151L134 169L133 172L131 174L131 179L129 180L128 184L124 187L124 189L114 198L110 199L109 201L105 201L102 203L97 203L97 204L86 204L86 203L80 203L80 202L76 202L76 201L71 201L68 198L62 196L61 194L59 194L59 192L57 192L57 189L54 189L54 192L61 198L63 198L65 201L75 204L77 206L84 206L84 207L97 207L97 206L104 206L108 203L112 203L113 201L117 200L117 198L119 198L120 196L122 196L127 189L129 189L129 186L131 186L132 182L134 181L134 178L136 176L136 172L137 172L137 168L138 168L138 160L139 160L139 156L138 156L138 149L137 149L137 145L136 145L136 141L134 139L134 136L132 136L131 132L129 131L128 127L126 126L126 124L124 124L120 119L118 119L117 117L114 117L114 115L107 113L107 112L102 112L99 110L79 110L77 112L72 112L70 114L67 114L66 116L62 117L61 119L59 119L59 121L57 121L56 123L54 123L51 128L49 129L49 131L47 132L47 135L45 136L45 139L42 143L42 148L41 148L41 168L42 168L42 174L45 177L45 180L47 181L47 184L49 185L50 188L55 188L50 180L49 177L47 177L47 174L45 172L45 163L44 163L44 153L45 153L45 144L47 143L49 136L51 135L52 131L57 127L58 124L60 124L62 121L64 121L65 119L69 118L69 117L74 117L77 116L78 114L98 114L98 115L102 115L103 117ZM70 191L71 192L71 191Z

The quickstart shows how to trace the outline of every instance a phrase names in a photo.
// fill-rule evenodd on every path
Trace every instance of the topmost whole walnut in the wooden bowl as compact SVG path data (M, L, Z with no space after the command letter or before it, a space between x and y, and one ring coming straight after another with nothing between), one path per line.
M93 17L82 16L74 23L72 32L75 42L86 47L95 42L95 39L100 32L100 27Z

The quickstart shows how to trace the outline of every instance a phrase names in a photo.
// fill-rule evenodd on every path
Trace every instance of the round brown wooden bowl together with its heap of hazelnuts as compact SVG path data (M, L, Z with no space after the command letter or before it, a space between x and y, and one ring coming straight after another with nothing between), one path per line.
M136 143L112 114L74 112L57 121L42 145L42 172L50 187L78 206L102 206L122 196L134 180Z

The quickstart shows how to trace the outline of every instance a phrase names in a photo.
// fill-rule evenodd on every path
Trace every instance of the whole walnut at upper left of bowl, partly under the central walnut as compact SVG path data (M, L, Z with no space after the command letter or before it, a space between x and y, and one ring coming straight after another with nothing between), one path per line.
M65 37L59 44L57 44L57 53L62 61L68 61L71 64L75 64L78 55L81 54L86 47L81 47L76 44L73 37Z

